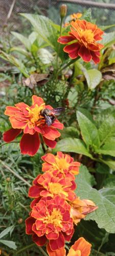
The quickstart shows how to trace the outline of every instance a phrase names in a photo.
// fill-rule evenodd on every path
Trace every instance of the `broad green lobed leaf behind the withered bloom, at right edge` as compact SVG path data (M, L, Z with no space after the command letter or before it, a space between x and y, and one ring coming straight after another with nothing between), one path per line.
M98 209L91 212L85 220L94 220L99 228L104 228L107 232L115 232L115 188L103 188L96 190L92 187L94 182L86 166L81 165L80 173L76 177L76 194L81 199L92 200Z

